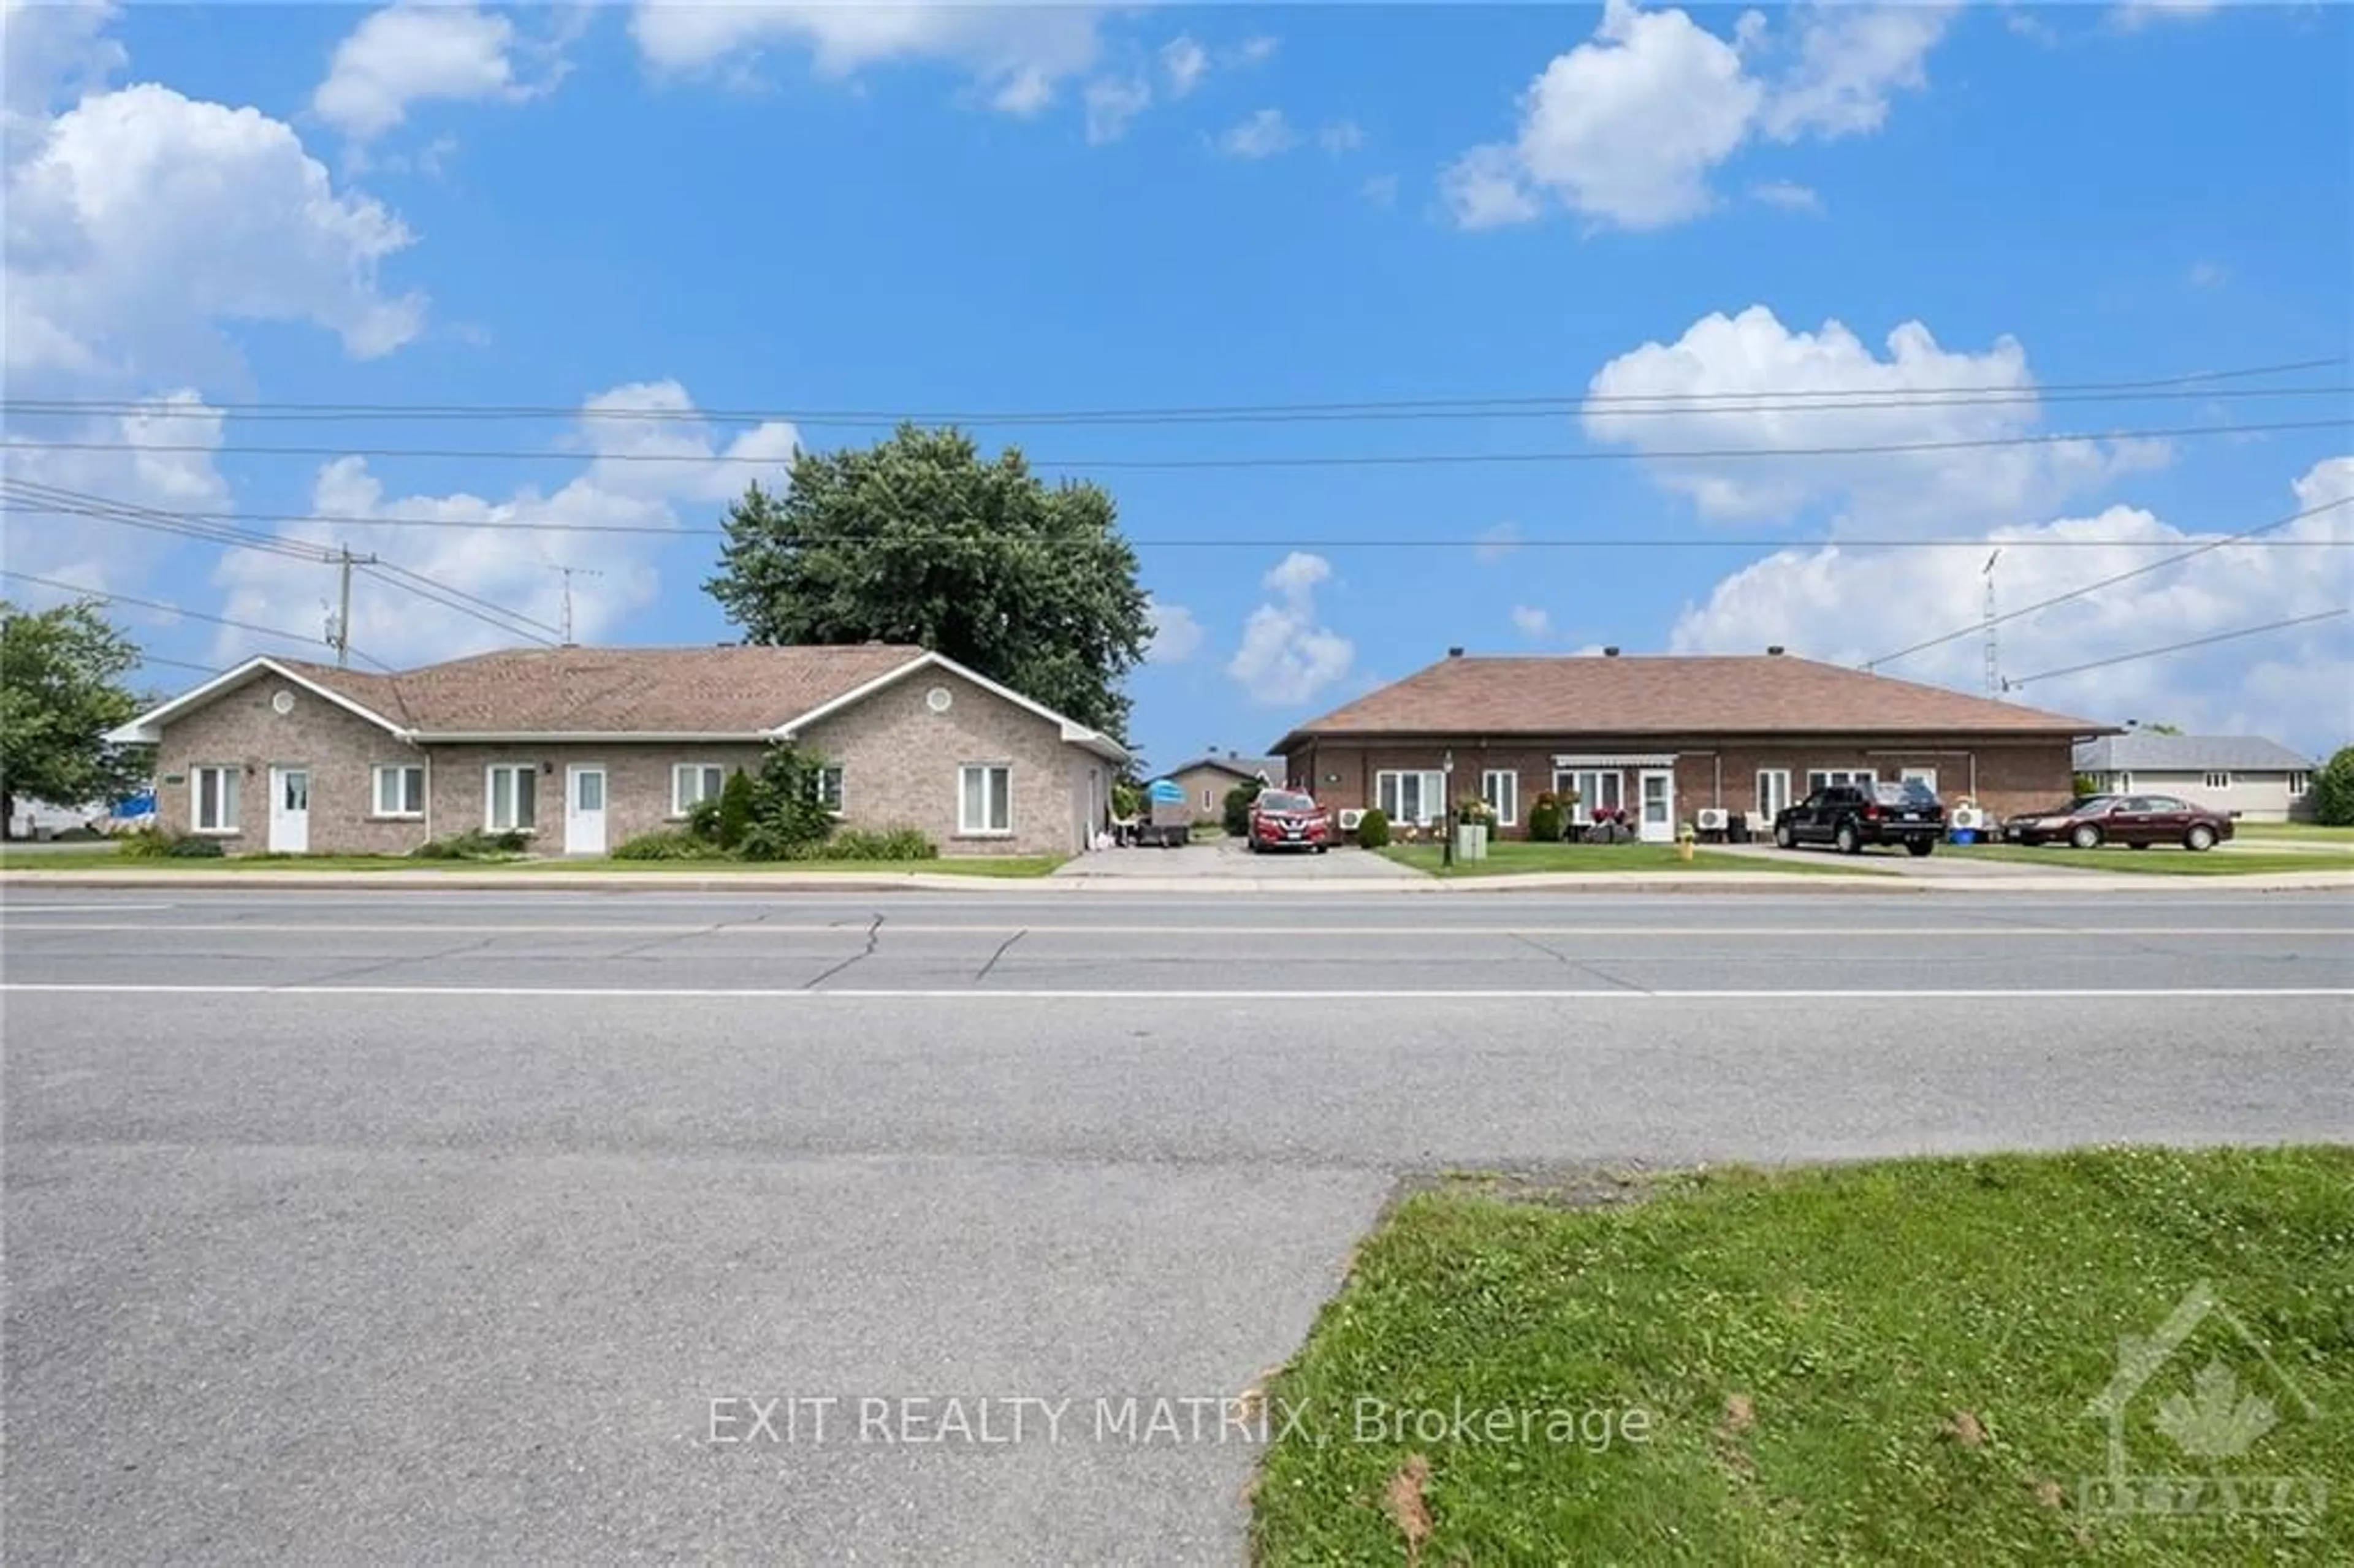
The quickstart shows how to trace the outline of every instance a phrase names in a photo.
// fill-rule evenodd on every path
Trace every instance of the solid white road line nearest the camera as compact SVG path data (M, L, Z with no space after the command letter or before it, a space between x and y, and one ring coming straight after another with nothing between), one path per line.
M268 984L106 984L106 982L0 982L5 991L75 994L75 996L527 996L565 1001L2189 1001L2189 998L2354 998L2354 986L2032 986L1951 989L1900 986L1888 991L942 991L942 989L826 989L800 986L268 986Z

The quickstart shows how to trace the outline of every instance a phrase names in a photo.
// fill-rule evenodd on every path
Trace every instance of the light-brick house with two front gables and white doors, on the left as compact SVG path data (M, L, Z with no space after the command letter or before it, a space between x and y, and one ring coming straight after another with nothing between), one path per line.
M247 659L115 730L158 824L231 852L403 855L520 831L603 855L791 739L843 826L942 855L1066 855L1128 751L923 647L534 647L398 673Z

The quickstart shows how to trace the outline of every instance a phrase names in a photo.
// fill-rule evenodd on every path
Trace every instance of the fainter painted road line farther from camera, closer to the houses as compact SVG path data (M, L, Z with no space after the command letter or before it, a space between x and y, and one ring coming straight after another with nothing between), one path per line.
M391 937L391 935L419 935L419 937L687 937L687 935L713 935L713 937L810 937L810 935L843 935L866 939L869 918L843 918L829 923L716 923L716 921L687 921L687 923L574 923L574 925L548 925L548 923L516 923L516 925L450 925L443 921L433 923L395 923L395 925L355 925L355 923L330 923L330 921L304 921L304 923L247 923L247 921L205 921L195 925L172 925L160 921L42 921L38 930L59 930L75 935L113 935L113 932L139 932L139 935L186 935L186 937L235 937L235 935L266 935L266 937L318 937L318 935L344 935L344 937ZM7 918L0 918L0 932L7 930ZM31 928L28 928L31 930ZM949 935L977 935L998 937L1012 930L1029 932L1033 937L1577 937L1582 942L1617 942L1617 939L1645 939L1655 942L1660 937L1853 937L1867 942L1909 942L1909 939L1954 939L1954 937L2354 937L2354 925L1043 925L1036 921L1003 921L1003 923L942 923L942 925L916 925L906 921L883 921L883 935L887 937L949 937Z

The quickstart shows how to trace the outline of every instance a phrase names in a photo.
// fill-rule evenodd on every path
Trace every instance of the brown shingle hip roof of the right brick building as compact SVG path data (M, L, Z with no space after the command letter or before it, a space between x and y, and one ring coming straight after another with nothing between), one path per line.
M1285 735L2100 735L2112 725L1789 655L1452 657Z

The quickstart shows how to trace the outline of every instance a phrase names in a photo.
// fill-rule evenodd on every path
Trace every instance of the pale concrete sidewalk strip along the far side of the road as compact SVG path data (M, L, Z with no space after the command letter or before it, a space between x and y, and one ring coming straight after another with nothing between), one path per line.
M977 892L977 895L1252 895L1302 897L1485 892L2354 892L2349 871L2262 876L2156 876L2123 871L2029 871L2001 878L1911 878L1888 871L1528 871L1507 876L1295 878L1295 876L953 876L939 871L28 871L0 869L0 888L403 888L541 892Z

